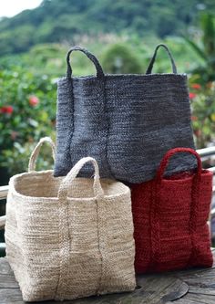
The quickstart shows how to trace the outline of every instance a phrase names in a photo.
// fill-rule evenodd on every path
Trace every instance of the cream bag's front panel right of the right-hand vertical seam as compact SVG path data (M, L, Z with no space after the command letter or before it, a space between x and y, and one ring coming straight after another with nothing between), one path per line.
M136 287L130 193L98 202L103 271L100 294L134 290Z

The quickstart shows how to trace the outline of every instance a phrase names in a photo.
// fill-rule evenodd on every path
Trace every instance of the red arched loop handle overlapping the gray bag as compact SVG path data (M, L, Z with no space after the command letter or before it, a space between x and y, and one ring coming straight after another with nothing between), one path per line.
M190 149L190 148L174 148L174 149L171 149L169 150L169 152L167 152L162 161L160 162L159 164L159 170L156 174L156 180L157 181L161 181L162 180L162 177L163 177L163 174L167 168L167 165L169 163L169 158L171 156L173 156L174 154L176 153L179 153L179 152L187 152L187 153L190 153L192 155L194 155L197 159L197 162L198 162L198 166L197 166L197 176L200 177L200 174L201 174L201 170L202 170L202 165L201 165L201 161L200 161L200 155L195 152L195 150L193 149Z

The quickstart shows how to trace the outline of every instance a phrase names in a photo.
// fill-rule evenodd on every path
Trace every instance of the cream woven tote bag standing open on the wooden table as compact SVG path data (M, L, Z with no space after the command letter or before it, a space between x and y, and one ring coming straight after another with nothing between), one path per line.
M133 290L134 239L130 191L99 180L87 157L65 178L36 172L36 146L29 172L9 183L6 257L26 301L76 299ZM50 142L50 141L49 141ZM76 178L92 162L94 179Z

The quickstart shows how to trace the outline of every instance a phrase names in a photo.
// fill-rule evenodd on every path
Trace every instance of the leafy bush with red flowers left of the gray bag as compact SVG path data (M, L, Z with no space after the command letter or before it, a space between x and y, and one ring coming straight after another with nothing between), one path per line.
M0 70L0 163L11 174L24 171L26 147L53 135L56 83L25 68ZM28 154L29 156L29 154Z

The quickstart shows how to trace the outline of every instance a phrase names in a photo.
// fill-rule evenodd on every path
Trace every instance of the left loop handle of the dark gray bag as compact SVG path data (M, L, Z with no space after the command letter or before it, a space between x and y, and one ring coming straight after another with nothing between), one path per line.
M101 68L100 63L98 62L97 58L91 54L89 51L87 51L86 48L83 47L72 47L69 49L68 53L67 53L67 78L71 78L72 76L72 68L70 65L70 54L73 51L79 51L84 53L85 55L87 55L87 58L89 58L95 65L96 69L97 69L97 78L103 78L105 76L103 69Z

